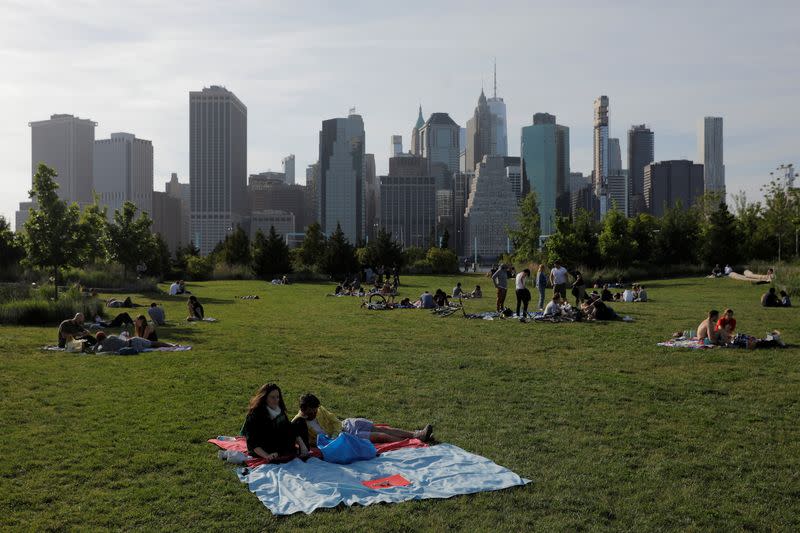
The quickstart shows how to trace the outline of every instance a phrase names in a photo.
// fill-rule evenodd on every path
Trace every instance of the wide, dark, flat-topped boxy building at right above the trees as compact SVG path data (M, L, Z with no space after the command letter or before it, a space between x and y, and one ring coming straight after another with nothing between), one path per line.
M685 159L660 161L644 167L644 198L647 211L664 215L678 202L684 209L703 194L703 165Z

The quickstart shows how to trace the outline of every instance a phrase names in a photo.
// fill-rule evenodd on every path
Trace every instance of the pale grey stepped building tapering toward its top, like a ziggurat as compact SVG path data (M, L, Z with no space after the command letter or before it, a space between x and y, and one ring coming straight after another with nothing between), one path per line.
M486 259L511 251L508 230L518 227L519 206L506 178L504 159L486 156L475 169L464 213L468 255Z

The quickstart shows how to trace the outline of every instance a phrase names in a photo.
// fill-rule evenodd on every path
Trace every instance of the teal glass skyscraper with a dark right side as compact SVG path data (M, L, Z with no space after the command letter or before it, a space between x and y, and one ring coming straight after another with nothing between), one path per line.
M569 128L549 113L536 113L522 128L522 180L536 192L542 235L555 232L557 214L569 209Z

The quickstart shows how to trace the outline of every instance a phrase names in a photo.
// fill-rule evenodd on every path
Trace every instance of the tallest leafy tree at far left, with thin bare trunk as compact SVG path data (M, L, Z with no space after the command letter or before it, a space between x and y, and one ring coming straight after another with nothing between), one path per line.
M25 253L30 265L52 272L55 298L61 269L80 266L84 260L84 244L80 232L80 209L58 198L56 171L40 163L33 175L29 195L37 207L25 222Z

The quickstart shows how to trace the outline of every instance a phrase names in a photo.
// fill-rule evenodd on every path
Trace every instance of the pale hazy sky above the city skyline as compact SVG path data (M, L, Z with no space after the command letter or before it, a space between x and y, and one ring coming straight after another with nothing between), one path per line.
M553 4L0 0L0 215L27 198L28 122L53 113L98 122L98 139L152 140L163 190L170 172L188 180L190 90L235 92L248 170L295 153L299 181L320 122L355 106L383 173L420 102L465 125L494 57L512 155L546 111L570 127L573 171L590 170L592 102L606 94L623 153L646 123L657 160L695 159L697 120L724 117L729 192L755 198L778 164L800 163L800 2Z

